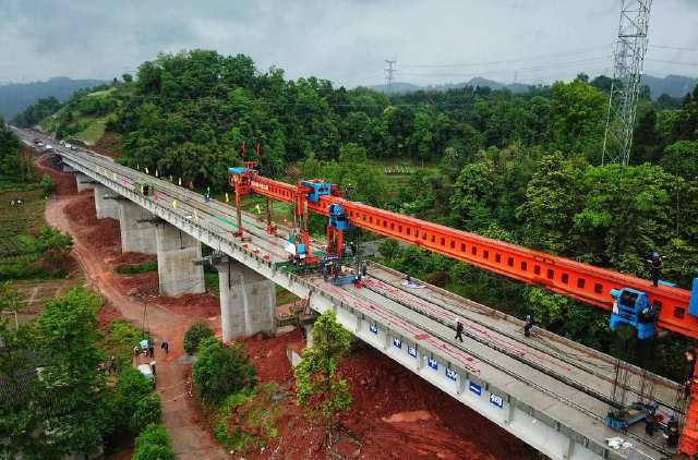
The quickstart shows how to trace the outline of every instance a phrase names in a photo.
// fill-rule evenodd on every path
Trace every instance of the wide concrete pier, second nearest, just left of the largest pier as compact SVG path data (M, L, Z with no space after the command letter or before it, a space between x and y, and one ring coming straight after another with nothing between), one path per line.
M201 242L167 222L158 223L155 235L160 293L178 296L205 292L204 266L194 264L201 259Z

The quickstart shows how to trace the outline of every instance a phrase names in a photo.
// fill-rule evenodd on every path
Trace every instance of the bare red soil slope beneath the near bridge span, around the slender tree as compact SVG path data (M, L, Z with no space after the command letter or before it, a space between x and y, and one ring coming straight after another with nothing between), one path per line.
M277 338L244 341L261 382L289 391L282 401L279 438L251 458L332 458L323 448L323 428L294 404L294 382L286 356L298 348L299 329ZM341 458L361 459L530 459L535 452L505 431L432 387L407 368L365 346L347 356L339 375L354 401L341 421L333 448ZM281 446L279 446L281 444ZM278 449L278 450L277 450Z

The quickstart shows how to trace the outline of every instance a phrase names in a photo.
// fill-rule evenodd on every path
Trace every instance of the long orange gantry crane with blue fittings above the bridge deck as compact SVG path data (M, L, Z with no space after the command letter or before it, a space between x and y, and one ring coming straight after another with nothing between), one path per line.
M230 185L236 189L238 213L240 197L248 193L292 204L300 241L308 251L306 217L312 211L329 218L328 245L334 246L332 252L339 257L341 231L346 226L337 222L342 221L609 310L612 329L621 323L628 324L637 329L640 339L654 335L655 328L698 339L698 278L694 280L693 291L664 282L655 286L646 279L345 199L336 185L324 181L299 180L291 185L268 179L258 173L252 161L245 162L245 167L228 168L228 174ZM273 232L268 211L266 216L267 231ZM238 225L241 234L240 219ZM679 445L679 451L691 456L698 455L697 370L698 366L694 370L696 385L691 385Z

